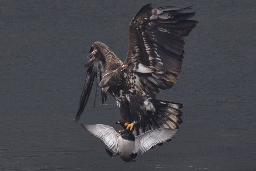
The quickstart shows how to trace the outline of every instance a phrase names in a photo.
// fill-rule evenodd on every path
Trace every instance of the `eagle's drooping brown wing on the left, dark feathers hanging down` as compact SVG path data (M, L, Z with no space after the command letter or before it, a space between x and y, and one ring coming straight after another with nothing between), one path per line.
M88 57L90 57L90 60L84 65L85 67L88 67L87 76L83 86L83 92L80 97L79 109L76 114L75 121L78 121L81 114L83 113L83 110L89 99L95 77L97 78L97 81L94 106L98 94L98 85L102 77L117 69L119 66L122 66L122 61L120 61L119 58L113 53L113 51L111 51L109 47L102 42L93 43ZM102 96L102 104L105 100L105 97Z

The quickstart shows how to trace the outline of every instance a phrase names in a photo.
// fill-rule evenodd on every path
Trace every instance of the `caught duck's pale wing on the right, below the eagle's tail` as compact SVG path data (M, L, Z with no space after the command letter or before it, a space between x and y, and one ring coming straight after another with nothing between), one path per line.
M154 129L136 136L135 152L139 151L144 153L154 145L174 138L178 132L178 129Z

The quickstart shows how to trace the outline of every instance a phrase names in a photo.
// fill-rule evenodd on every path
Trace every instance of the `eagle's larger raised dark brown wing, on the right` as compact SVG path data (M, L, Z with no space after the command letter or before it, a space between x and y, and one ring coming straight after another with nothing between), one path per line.
M139 76L139 86L155 97L158 88L167 89L178 80L184 58L184 38L198 23L192 7L144 6L129 24L129 45L124 66L128 82ZM153 93L154 94L153 94Z

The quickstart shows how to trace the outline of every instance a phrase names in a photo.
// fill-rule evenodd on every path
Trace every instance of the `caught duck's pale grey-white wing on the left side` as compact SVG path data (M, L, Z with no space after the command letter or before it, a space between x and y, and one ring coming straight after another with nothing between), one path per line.
M111 149L114 153L117 151L118 140L117 136L119 135L113 127L109 125L102 124L81 124L83 128L91 132L96 137L102 139L104 143Z

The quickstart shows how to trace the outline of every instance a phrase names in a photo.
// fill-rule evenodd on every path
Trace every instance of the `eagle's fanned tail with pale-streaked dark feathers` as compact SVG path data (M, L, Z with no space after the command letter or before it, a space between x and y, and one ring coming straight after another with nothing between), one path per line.
M180 118L183 113L178 110L178 108L182 108L182 104L156 99L151 100L151 102L156 108L152 121L156 123L158 127L179 129L177 124L181 124L183 122Z

